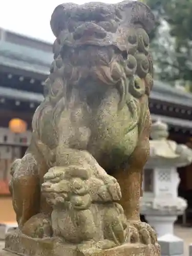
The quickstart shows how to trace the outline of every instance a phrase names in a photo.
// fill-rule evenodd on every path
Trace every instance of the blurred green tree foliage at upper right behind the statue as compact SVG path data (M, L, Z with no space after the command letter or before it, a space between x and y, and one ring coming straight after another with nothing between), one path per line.
M157 19L151 39L154 57L161 56L155 57L159 78L183 80L192 89L192 0L144 2L151 7ZM167 36L160 31L162 22L168 25Z

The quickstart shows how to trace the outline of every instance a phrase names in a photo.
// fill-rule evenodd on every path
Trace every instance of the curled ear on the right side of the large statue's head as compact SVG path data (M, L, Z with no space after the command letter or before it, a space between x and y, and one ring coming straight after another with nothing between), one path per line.
M122 23L140 25L150 33L155 25L155 16L151 9L139 1L123 1L116 5L116 13L121 16Z

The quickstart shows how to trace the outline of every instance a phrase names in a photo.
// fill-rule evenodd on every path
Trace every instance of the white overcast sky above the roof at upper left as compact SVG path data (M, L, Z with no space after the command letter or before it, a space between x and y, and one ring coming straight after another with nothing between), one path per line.
M54 41L50 29L50 18L54 8L62 3L86 2L118 3L118 0L0 0L0 27L35 37Z

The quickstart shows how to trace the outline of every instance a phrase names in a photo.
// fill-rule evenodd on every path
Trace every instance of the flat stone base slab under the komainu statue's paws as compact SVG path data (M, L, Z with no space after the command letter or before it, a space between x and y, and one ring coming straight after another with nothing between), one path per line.
M5 253L26 256L160 256L159 245L124 244L108 250L89 248L80 252L76 245L67 244L58 238L33 239L10 231L5 240ZM4 254L0 254L4 256ZM7 254L5 254L7 255Z

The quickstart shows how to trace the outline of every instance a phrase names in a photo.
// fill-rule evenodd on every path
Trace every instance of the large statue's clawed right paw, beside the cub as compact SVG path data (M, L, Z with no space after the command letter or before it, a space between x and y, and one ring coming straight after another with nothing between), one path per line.
M132 222L129 225L127 242L141 243L145 245L156 244L157 236L155 230L145 222Z

